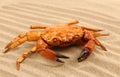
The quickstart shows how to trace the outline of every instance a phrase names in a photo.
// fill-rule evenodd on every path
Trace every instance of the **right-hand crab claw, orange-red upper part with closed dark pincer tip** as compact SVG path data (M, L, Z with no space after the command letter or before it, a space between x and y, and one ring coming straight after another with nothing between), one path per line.
M93 40L89 40L85 47L83 48L80 56L78 57L78 62L85 60L94 50L95 42Z

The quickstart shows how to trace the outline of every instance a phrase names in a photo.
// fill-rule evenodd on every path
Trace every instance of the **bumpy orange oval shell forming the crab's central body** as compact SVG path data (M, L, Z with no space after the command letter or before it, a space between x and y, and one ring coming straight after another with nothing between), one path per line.
M62 25L45 29L41 34L42 39L51 46L65 47L76 44L83 37L80 26Z

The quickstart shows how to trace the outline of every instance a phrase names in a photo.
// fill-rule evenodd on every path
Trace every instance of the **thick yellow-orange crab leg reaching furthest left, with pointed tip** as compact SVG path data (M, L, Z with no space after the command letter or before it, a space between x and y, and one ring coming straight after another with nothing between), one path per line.
M39 39L41 32L30 31L27 33L20 34L18 37L14 38L8 45L5 47L4 53L9 50L21 45L26 41L36 41Z

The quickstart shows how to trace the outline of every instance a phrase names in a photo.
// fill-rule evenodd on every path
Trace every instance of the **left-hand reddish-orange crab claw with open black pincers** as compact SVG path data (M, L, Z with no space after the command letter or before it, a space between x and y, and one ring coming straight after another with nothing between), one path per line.
M55 51L51 50L50 46L48 46L42 39L39 39L37 42L37 51L43 57L53 61L61 62L61 63L64 63L64 62L59 58L66 58L66 59L69 58L67 56L58 54Z

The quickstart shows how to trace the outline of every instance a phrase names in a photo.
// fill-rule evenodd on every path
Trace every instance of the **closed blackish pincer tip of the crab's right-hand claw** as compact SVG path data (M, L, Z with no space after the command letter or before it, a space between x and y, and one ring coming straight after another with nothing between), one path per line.
M83 49L83 51L81 52L78 58L78 62L85 60L89 55L90 55L90 50L88 48Z

